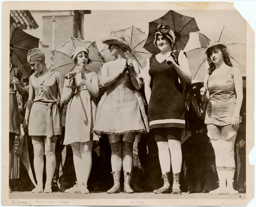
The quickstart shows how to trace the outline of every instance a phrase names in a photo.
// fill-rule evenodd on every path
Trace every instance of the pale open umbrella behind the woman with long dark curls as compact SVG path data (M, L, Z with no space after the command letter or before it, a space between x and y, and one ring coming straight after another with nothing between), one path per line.
M246 72L246 44L235 36L225 26L217 39L218 41L225 40L229 57L232 65L239 68L241 74ZM206 55L205 49L208 42L211 40L204 34L194 32L190 34L190 40L184 49L187 53L189 66L192 73L192 80L204 81L204 77L208 72L205 68Z

